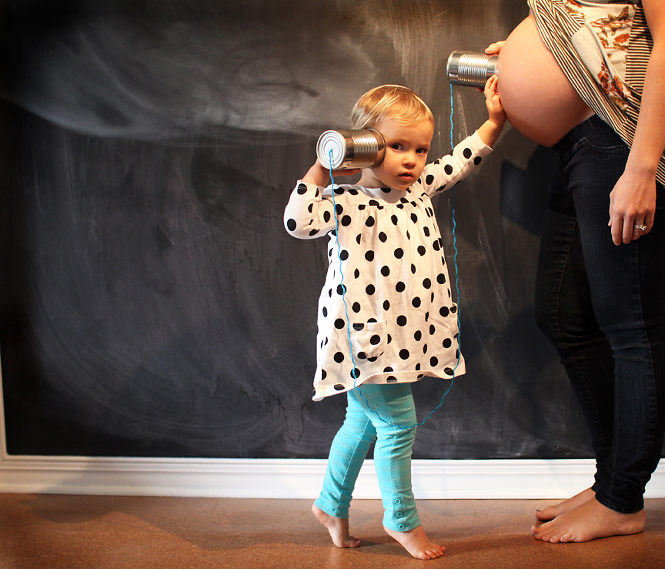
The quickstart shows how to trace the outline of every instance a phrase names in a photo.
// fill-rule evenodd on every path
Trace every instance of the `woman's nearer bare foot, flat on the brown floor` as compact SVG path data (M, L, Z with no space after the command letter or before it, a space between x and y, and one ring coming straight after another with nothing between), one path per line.
M557 516L550 522L533 526L536 539L550 543L591 541L600 537L639 533L646 524L646 514L621 514L604 507L596 499Z

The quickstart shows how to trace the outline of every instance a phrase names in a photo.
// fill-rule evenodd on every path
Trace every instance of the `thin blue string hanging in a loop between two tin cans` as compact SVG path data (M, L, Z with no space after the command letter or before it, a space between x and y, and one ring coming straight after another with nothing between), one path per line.
M450 148L454 148L453 144L453 131L454 131L454 122L453 122L453 111L454 111L454 100L453 100L453 86L450 84ZM353 364L353 370L352 370L352 376L353 376L353 388L358 390L358 393L360 396L364 399L367 408L374 413L383 423L386 423L386 425L389 425L390 427L396 426L400 429L412 429L413 427L420 427L424 425L425 421L427 421L440 407L444 404L444 399L446 399L446 396L452 389L453 384L455 383L455 370L457 370L458 366L460 365L460 360L461 360L461 354L462 354L462 326L460 322L460 277L459 272L458 272L458 247L457 247L457 235L456 235L456 229L457 229L457 221L455 219L455 186L453 186L450 191L452 193L452 219L453 219L453 249L455 251L453 260L454 260L454 265L455 265L455 289L456 289L456 294L457 294L457 299L458 299L458 310L457 310L457 323L458 323L458 358L457 362L455 364L455 367L453 368L453 375L452 378L450 378L450 385L448 386L448 389L446 392L444 392L441 401L430 411L430 414L427 415L420 423L415 423L414 425L408 425L408 426L402 426L398 425L397 423L388 423L386 419L384 419L381 415L379 415L374 409L370 407L370 402L367 400L367 398L362 394L362 391L360 390L360 387L356 385L356 381L358 380L358 376L360 375L357 373L357 368L356 368L356 361L353 358L353 346L351 345L351 325L350 325L350 320L348 318L348 304L346 304L346 286L344 286L344 273L342 272L342 257L341 257L341 245L339 243L339 220L337 219L337 204L335 203L334 199L334 178L332 177L332 148L329 153L330 157L330 176L331 176L331 189L332 189L332 215L334 216L334 228L335 228L335 235L337 237L337 258L339 259L339 273L340 273L340 285L342 286L342 302L344 302L344 314L346 315L346 335L348 336L348 350L349 353L351 354L351 363Z

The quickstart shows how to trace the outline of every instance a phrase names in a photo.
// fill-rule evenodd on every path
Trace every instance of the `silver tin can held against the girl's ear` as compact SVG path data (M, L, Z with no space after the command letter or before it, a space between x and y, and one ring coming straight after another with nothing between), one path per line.
M317 142L319 162L323 166L332 166L332 170L374 168L383 162L385 155L386 142L383 136L371 128L327 130L319 136Z

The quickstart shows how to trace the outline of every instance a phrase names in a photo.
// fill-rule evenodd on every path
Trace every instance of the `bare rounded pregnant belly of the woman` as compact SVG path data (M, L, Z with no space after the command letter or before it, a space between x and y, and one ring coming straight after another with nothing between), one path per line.
M552 146L593 114L543 44L533 17L508 36L498 67L498 90L508 120L539 144Z

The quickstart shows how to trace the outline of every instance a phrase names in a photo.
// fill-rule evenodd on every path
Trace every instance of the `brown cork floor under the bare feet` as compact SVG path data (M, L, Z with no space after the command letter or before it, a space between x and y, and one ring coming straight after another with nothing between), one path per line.
M442 558L412 559L381 526L380 501L354 501L356 549L338 549L310 501L0 495L0 568L660 568L665 499L641 534L583 544L531 537L543 500L418 501Z

